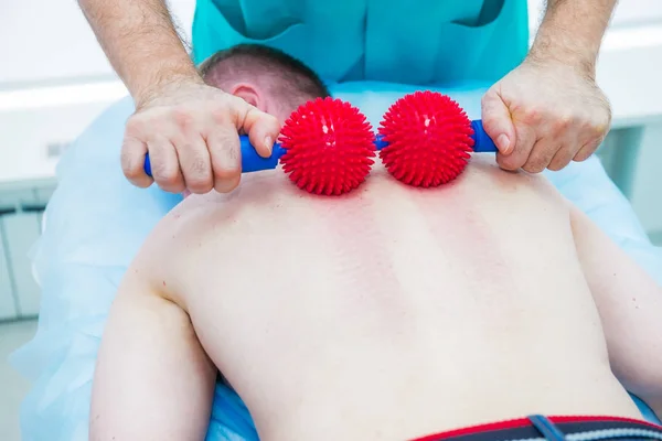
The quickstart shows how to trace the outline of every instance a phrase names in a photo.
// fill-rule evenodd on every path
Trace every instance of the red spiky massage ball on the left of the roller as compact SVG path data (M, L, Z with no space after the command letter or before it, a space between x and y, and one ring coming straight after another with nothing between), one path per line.
M282 127L280 159L289 179L310 193L339 195L357 187L375 157L375 135L349 103L317 98L300 106Z

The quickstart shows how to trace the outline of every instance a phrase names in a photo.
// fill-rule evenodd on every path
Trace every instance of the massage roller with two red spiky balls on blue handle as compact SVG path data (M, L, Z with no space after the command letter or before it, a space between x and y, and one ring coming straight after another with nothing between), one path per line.
M384 115L377 136L349 103L317 98L291 114L269 158L257 154L247 136L239 140L243 173L275 169L280 162L298 187L323 195L361 185L375 151L393 176L423 187L457 178L471 151L496 151L480 120L470 121L456 101L434 92L398 99ZM145 172L151 175L149 155Z

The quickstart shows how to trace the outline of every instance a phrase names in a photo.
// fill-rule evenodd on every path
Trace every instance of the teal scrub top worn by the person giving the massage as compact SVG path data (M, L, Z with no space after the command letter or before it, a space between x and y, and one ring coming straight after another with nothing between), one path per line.
M528 49L526 0L197 0L193 57L238 43L289 53L324 80L495 82Z

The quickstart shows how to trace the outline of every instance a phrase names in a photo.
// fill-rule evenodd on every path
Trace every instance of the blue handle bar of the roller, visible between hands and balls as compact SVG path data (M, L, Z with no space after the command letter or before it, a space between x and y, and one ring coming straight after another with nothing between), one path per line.
M494 141L485 133L482 121L477 119L471 121L471 128L473 129L473 151L478 153L495 153L496 146L494 146ZM285 149L279 144L274 144L274 151L269 158L263 158L257 154L255 148L250 144L248 140L248 136L242 135L239 137L239 142L242 146L242 172L250 173L260 170L269 170L275 169L278 165L278 161L285 154ZM387 142L382 140L381 136L376 137L375 148L376 150L382 150L384 147L388 146ZM145 173L148 176L151 176L151 163L149 162L149 153L145 157Z

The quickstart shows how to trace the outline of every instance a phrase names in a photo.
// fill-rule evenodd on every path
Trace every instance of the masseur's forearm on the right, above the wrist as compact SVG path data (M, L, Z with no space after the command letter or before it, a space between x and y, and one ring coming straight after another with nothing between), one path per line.
M595 75L595 65L617 0L547 0L531 58L553 58Z

